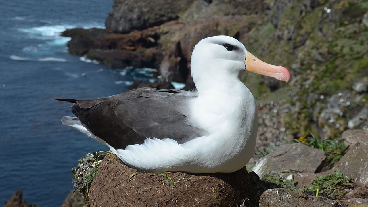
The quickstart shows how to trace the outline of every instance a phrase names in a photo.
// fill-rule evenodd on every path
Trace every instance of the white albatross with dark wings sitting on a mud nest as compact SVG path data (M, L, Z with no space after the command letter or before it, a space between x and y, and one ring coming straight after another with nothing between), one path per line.
M259 60L237 39L212 36L194 47L191 75L197 90L138 88L74 103L67 126L107 145L141 172L234 172L253 155L258 111L241 71L289 81L282 66Z

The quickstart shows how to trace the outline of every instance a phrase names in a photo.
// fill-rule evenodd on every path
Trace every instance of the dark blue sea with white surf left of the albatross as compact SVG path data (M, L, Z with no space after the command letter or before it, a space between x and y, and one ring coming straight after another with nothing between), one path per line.
M70 55L60 32L105 28L112 0L2 1L0 7L0 206L17 189L27 203L61 206L73 190L71 168L88 152L108 150L61 124L71 103L153 81L152 69L111 68ZM82 76L85 74L85 76Z

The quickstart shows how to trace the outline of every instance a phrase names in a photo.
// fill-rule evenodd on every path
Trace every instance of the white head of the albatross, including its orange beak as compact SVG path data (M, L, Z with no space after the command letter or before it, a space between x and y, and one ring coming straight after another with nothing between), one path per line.
M241 42L230 36L204 38L194 47L191 74L197 89L198 83L219 84L238 79L239 72L244 70L286 82L290 80L286 68L259 60Z

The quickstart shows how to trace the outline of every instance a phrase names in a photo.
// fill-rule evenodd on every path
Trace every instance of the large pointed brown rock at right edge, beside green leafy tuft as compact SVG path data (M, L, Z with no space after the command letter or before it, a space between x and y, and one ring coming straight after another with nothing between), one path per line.
M343 175L353 179L358 185L368 183L368 145L358 141L340 159L331 171L340 168Z

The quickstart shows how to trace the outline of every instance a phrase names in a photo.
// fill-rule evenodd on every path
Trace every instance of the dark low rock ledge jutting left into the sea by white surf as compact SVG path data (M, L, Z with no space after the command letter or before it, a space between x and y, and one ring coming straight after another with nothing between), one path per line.
M157 29L125 35L107 29L68 29L62 35L72 38L68 42L72 54L86 55L112 67L157 68L163 58L157 49Z

